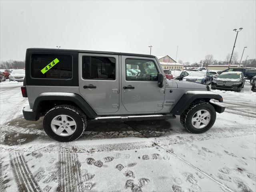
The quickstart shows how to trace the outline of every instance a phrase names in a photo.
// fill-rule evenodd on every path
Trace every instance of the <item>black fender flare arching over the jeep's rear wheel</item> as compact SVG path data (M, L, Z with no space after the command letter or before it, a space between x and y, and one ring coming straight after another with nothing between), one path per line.
M77 106L81 108L81 110L86 114L88 118L95 118L97 116L96 112L92 109L92 107L78 94L74 93L66 93L66 92L45 92L39 94L39 96L34 101L33 111L39 112L40 103L42 101L50 101L50 100L64 100L74 102Z

